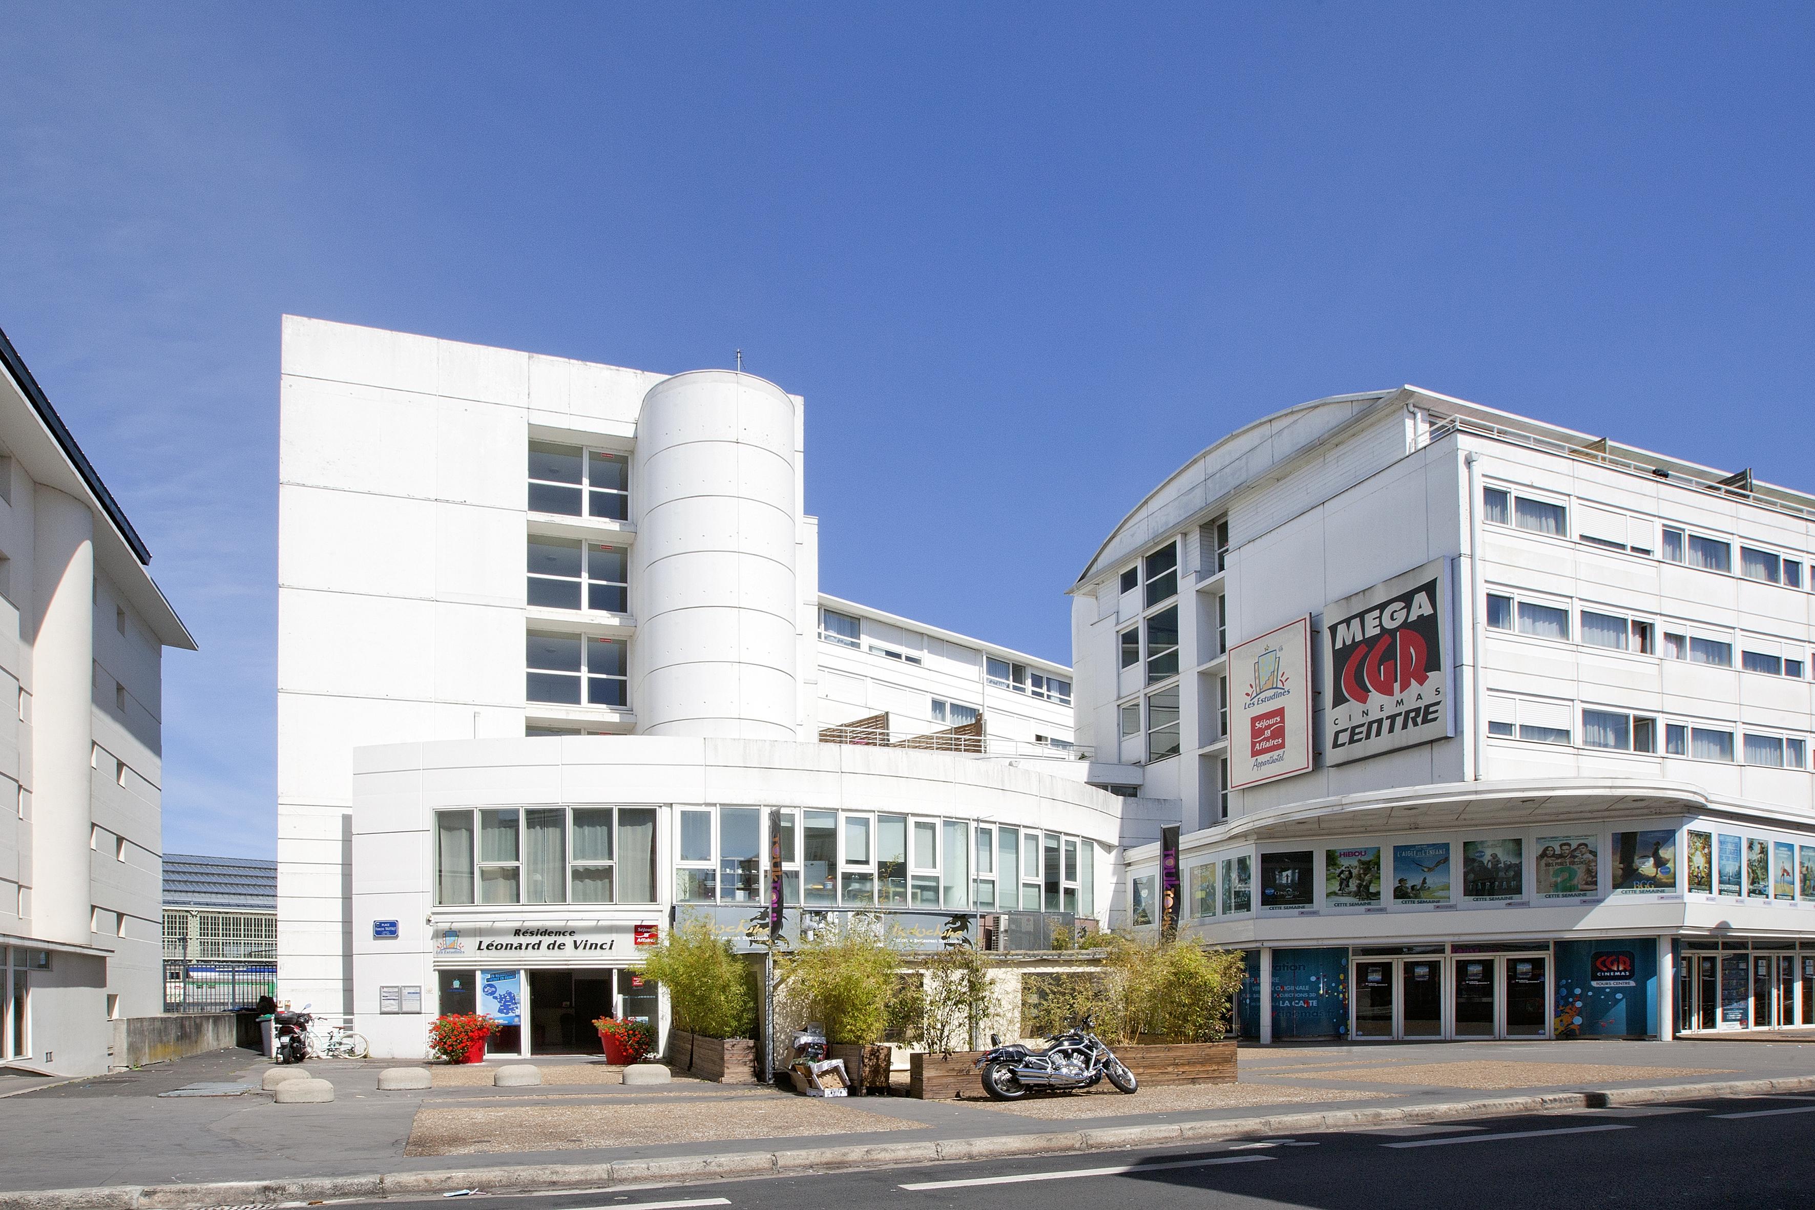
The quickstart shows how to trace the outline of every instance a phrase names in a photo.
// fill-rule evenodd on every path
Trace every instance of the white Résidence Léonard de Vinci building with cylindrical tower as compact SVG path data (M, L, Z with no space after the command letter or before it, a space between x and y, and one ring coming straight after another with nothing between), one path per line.
M742 932L771 827L793 929L1094 916L1069 669L819 591L797 395L299 317L281 390L280 998L595 1049L677 912Z

